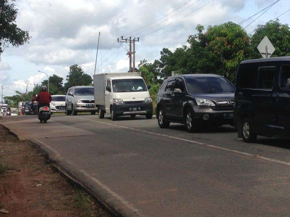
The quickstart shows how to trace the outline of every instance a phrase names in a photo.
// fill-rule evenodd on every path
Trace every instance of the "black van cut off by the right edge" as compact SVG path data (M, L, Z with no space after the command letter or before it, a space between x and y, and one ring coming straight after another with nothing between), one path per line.
M290 138L290 57L242 61L236 84L238 137Z

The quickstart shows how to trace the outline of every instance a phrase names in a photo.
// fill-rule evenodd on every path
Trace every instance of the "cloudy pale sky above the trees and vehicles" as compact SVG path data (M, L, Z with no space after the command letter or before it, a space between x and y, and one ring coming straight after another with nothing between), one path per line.
M136 43L138 65L143 59L159 59L163 47L173 51L185 44L187 37L196 33L197 24L206 27L227 21L239 23L273 2L274 0L16 0L15 4L19 9L16 23L21 29L29 31L32 38L24 46L4 50L0 62L0 85L9 87L3 91L3 95L14 95L15 90L24 92L26 82L41 83L46 75L37 70L61 76L65 82L69 66L78 64L85 73L93 75L99 32L101 50L96 73L101 73L102 70L122 72L128 70L129 60L125 44L120 46L121 44L114 43L117 37L140 36L140 42ZM256 25L274 19L290 9L289 3L290 0L276 3L249 25L247 32L252 32ZM165 15L167 16L164 17ZM256 17L242 26L247 26ZM290 12L279 19L282 23L289 23ZM144 26L146 27L142 28ZM28 90L32 88L33 85L28 86Z

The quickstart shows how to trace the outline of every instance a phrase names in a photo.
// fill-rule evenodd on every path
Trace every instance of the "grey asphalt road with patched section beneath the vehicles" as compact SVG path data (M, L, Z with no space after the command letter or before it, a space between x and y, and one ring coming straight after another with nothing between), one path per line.
M233 127L187 133L180 124L109 116L2 117L35 139L74 179L127 216L288 216L289 141L247 144ZM31 133L33 132L33 133ZM34 140L33 140L34 141Z

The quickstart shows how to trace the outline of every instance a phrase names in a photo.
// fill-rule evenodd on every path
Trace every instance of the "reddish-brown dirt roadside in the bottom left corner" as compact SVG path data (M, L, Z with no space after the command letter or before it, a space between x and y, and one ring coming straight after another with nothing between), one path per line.
M0 216L108 217L98 202L74 187L29 142L0 125ZM2 213L3 209L9 213Z

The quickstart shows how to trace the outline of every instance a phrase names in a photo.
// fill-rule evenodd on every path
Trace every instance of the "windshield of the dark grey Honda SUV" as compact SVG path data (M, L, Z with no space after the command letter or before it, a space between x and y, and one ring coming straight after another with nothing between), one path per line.
M233 85L222 77L186 77L185 80L191 94L235 92Z

